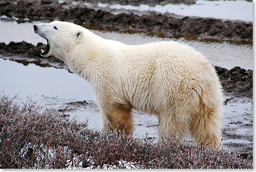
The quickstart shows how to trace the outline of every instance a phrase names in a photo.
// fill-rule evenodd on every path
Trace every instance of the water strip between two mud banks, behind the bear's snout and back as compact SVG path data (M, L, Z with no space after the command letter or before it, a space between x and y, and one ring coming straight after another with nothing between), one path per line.
M36 45L38 42L46 43L46 40L36 35L33 31L34 23L3 22L0 21L0 42L9 43L10 41L26 41ZM252 44L232 44L228 42L202 42L198 40L188 41L184 38L170 39L156 36L148 36L141 33L128 34L117 31L92 30L93 33L111 40L117 40L126 44L142 44L156 41L176 40L189 44L202 52L213 65L227 69L240 66L245 69L253 69L253 46ZM22 34L20 34L22 32Z

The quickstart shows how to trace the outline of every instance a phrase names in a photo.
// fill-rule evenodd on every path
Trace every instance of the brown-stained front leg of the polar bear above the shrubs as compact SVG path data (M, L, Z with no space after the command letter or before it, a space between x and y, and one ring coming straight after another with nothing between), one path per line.
M109 129L130 134L133 131L131 107L122 104L104 105L100 110L103 129Z

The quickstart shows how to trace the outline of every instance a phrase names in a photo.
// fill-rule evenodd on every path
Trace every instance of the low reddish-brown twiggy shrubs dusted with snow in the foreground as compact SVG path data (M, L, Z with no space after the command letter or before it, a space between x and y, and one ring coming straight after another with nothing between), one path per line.
M253 168L239 152L98 132L31 100L17 102L0 95L0 168Z

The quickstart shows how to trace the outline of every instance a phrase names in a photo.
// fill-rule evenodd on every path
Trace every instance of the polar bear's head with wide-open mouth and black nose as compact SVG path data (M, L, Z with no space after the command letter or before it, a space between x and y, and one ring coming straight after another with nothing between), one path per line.
M65 55L74 49L83 37L83 27L74 23L53 21L35 24L34 31L47 40L47 46L41 49L41 56L50 55L65 61Z

